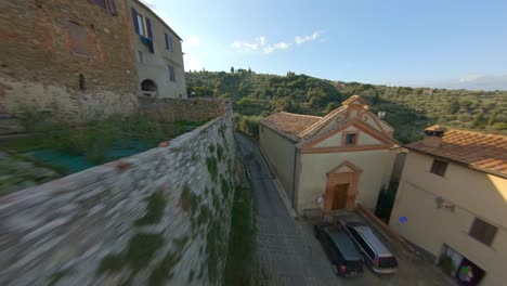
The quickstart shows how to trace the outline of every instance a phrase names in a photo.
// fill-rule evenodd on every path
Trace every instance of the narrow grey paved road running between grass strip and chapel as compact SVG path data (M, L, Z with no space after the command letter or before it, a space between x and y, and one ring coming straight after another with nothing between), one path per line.
M258 146L243 135L237 139L251 177L261 264L273 268L286 285L338 285L320 246L288 214Z

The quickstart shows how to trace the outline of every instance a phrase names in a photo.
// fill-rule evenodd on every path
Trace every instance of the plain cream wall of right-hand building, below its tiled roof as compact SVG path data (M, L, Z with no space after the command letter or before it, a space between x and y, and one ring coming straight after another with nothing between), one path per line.
M486 272L481 285L505 284L507 180L457 164L442 178L429 172L431 164L431 156L408 153L390 225L435 257L444 244L451 246ZM437 208L437 197L455 205L454 211ZM402 216L406 223L399 221ZM491 246L468 235L476 217L498 227Z

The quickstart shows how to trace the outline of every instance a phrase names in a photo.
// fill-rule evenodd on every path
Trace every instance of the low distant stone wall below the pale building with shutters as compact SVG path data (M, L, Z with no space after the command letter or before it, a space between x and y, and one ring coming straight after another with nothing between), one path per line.
M208 120L224 114L229 103L219 99L146 99L140 98L141 112L162 121Z

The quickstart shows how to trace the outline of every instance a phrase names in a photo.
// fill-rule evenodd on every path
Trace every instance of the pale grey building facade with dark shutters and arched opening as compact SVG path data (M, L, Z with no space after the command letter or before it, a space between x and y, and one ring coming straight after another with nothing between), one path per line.
M150 8L128 0L138 90L148 98L187 98L182 39Z

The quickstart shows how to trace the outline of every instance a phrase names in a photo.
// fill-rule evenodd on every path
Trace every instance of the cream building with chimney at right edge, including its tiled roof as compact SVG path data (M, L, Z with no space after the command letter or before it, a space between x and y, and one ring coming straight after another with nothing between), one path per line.
M463 285L506 285L507 136L434 126L406 148L391 227Z

